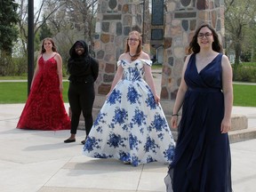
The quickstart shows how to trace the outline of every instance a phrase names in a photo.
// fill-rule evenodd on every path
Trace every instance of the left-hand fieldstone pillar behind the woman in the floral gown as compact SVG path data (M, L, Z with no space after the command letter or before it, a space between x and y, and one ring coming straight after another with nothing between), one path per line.
M105 95L109 92L116 74L116 62L124 52L129 33L132 30L142 32L143 4L140 3L141 1L135 0L98 1L93 47L95 58L100 63L100 73L95 83L94 117L106 100ZM147 15L144 18L146 17ZM147 39L147 36L145 37Z

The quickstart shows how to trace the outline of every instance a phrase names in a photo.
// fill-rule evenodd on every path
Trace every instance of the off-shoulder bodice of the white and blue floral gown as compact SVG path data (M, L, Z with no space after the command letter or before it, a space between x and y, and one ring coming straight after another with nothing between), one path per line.
M140 81L143 78L145 70L143 68L144 64L151 66L151 60L133 60L129 63L126 60L118 60L117 66L121 65L124 68L123 79L128 81Z

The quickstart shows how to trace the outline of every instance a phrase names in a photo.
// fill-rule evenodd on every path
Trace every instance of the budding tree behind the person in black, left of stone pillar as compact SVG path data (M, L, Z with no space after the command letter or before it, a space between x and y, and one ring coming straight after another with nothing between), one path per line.
M44 14L53 12L52 0L45 5ZM58 45L63 63L68 60L70 46L78 39L84 39L92 44L94 34L94 7L97 0L60 0L62 4L58 11L52 13L47 19L47 25L52 30L52 36Z

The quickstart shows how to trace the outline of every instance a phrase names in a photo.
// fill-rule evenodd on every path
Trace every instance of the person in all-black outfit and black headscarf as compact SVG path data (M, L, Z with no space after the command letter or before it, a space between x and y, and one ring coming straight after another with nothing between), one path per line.
M68 60L70 74L68 101L71 108L71 130L65 143L76 141L76 130L79 124L81 110L85 122L85 140L92 128L92 106L95 99L94 82L99 74L99 63L88 52L88 45L80 40L71 47ZM84 144L84 140L81 141Z

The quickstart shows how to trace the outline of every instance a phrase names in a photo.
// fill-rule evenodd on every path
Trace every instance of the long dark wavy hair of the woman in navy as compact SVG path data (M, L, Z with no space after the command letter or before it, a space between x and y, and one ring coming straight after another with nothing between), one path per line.
M209 28L212 31L212 36L214 41L212 42L212 50L215 52L222 52L222 45L220 44L219 36L216 33L215 29L212 28L209 24L203 24L199 28L196 29L196 33L192 38L192 41L189 44L188 52L189 53L198 53L200 52L200 46L197 44L197 36L201 28Z

